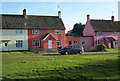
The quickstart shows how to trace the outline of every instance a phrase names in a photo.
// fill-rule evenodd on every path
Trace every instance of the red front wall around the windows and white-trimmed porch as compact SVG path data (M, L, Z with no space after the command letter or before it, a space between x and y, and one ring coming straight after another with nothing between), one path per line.
M44 35L47 33L51 33L51 34L53 34L53 36L56 39L61 40L61 45L63 47L65 47L65 30L61 30L61 34L55 34L54 29L40 29L39 34L32 34L32 29L28 29L28 43L29 43L28 47L29 48L42 48L42 46L33 47L32 41L33 40L41 40L41 38L44 37ZM42 44L40 44L40 45L42 45Z

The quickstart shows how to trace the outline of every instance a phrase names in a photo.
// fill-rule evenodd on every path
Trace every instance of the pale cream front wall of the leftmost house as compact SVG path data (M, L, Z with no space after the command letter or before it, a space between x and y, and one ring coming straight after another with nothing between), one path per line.
M23 47L16 47L16 40L23 40ZM15 29L2 29L2 50L3 42L8 42L8 50L28 50L28 31L22 30L22 34L16 34Z

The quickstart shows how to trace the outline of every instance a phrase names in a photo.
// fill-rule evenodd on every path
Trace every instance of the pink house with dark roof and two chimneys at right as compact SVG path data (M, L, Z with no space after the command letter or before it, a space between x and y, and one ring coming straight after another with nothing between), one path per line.
M111 20L96 20L90 19L90 15L87 15L83 36L93 36L92 46L104 43L107 48L118 47L118 33L120 33L119 23L119 21L114 20L114 16L111 17Z

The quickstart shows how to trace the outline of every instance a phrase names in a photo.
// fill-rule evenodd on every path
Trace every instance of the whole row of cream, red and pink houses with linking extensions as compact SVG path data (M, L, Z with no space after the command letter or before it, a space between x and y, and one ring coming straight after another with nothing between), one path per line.
M120 46L120 21L94 20L87 15L82 37L65 36L65 26L58 16L2 14L2 51L65 47L70 44L92 47L104 43L108 48Z

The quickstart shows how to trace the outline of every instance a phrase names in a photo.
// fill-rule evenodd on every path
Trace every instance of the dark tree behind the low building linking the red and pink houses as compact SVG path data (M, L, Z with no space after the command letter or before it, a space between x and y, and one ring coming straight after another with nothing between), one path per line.
M68 31L66 36L83 36L83 29L85 25L82 23L76 23L72 30Z

